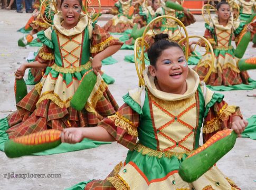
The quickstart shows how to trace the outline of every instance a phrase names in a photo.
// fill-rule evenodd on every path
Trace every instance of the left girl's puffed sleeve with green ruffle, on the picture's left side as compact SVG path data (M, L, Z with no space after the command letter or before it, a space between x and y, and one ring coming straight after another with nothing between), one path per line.
M39 50L35 60L48 65L54 63L54 45L51 41L51 30L51 27L49 27L47 30L37 33L37 37L43 43L43 46Z

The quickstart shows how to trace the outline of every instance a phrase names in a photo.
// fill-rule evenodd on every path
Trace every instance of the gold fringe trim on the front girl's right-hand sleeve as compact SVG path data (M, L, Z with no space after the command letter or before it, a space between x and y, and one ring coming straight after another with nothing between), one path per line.
M224 119L230 117L236 110L236 106L227 106L225 104L220 111L217 113L217 116L210 121L207 121L207 124L203 127L203 133L210 134L218 129L220 129L221 122Z

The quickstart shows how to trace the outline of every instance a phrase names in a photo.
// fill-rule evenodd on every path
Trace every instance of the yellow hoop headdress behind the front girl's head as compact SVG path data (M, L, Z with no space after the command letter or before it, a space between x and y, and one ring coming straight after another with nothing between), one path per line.
M179 25L180 32L183 29L185 37L183 37L183 39L179 40L178 44L181 45L181 46L184 46L184 48L185 48L185 53L184 54L185 54L186 60L188 60L188 51L189 51L189 47L188 47L189 43L188 42L189 42L189 39L191 39L191 38L197 37L197 38L200 39L201 44L204 43L205 53L201 56L204 56L208 52L211 53L211 56L212 56L211 67L210 67L210 69L208 70L207 74L204 76L204 79L203 79L203 81L207 81L207 79L210 77L210 74L211 74L212 68L213 68L213 64L214 64L214 53L213 53L212 45L210 44L210 42L208 42L202 36L197 36L197 35L188 36L186 27L184 26L184 24L181 21L179 21L177 18L175 18L173 16L164 15L164 16L159 16L159 17L155 18L154 20L152 20L146 26L145 31L143 33L143 36L137 38L136 41L135 41L134 56L135 56L135 67L136 67L136 71L137 71L138 78L139 78L139 86L144 86L145 85L145 81L144 81L144 70L146 68L146 66L145 66L145 59L146 59L145 58L145 52L149 49L149 44L145 40L145 35L146 35L146 33L149 29L153 30L153 25L156 22L163 21L164 18L174 20ZM172 40L172 39L170 39L170 40ZM197 43L195 45L195 47L198 45L201 48L200 43ZM192 55L192 56L198 56L198 55L196 54L196 55Z

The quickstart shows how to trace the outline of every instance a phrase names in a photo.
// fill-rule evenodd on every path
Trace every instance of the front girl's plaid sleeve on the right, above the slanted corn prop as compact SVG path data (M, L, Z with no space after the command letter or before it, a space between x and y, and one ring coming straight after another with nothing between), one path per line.
M217 131L231 128L232 117L239 116L243 118L239 107L229 106L225 101L220 103L216 102L213 107L210 108L208 115L204 120L203 126L203 141L211 138Z

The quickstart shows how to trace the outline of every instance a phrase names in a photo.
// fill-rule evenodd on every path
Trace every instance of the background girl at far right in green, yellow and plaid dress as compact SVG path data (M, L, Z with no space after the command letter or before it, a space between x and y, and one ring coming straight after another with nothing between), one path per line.
M220 2L217 5L217 16L212 18L210 24L205 23L204 37L212 44L215 61L213 71L206 84L211 86L233 86L234 84L249 84L249 75L246 71L240 71L237 67L239 59L234 55L231 45L232 33L239 38L243 31L252 30L251 25L234 21L230 11L230 5ZM195 42L194 42L195 43ZM195 70L201 76L210 69L211 56L206 54L197 64Z

